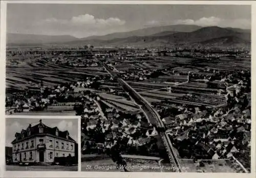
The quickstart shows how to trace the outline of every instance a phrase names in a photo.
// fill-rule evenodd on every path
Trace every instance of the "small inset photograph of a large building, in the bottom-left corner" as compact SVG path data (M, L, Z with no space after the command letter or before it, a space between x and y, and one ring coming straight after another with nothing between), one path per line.
M7 171L77 171L78 120L6 118Z

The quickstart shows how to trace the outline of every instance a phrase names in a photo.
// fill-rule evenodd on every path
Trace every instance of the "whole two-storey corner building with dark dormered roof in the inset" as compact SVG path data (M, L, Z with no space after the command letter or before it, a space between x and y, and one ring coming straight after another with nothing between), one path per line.
M29 124L26 130L15 134L12 141L13 163L52 163L54 157L74 157L75 144L68 131L50 128L40 120L39 124Z

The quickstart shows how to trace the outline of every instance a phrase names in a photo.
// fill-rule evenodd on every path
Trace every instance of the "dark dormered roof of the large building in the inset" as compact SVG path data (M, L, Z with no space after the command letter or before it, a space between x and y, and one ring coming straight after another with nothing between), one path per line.
M40 127L44 128L43 133L39 133L39 128ZM30 135L28 135L29 131L30 131ZM56 136L56 131L58 131L58 136ZM22 138L22 134L24 134L24 138ZM26 139L27 137L31 137L31 136L36 135L36 134L50 134L50 135L53 135L55 137L59 137L59 138L62 138L62 139L67 139L67 140L75 142L75 140L69 136L68 131L63 131L63 132L59 131L56 126L54 128L51 128L51 127L45 125L44 123L42 123L41 120L40 120L38 124L36 124L34 126L31 126L31 124L29 124L29 126L26 130L22 130L21 133L16 133L15 137L17 138L17 140L14 139L12 141L12 143L15 143L19 140ZM67 138L67 135L68 135L68 138Z

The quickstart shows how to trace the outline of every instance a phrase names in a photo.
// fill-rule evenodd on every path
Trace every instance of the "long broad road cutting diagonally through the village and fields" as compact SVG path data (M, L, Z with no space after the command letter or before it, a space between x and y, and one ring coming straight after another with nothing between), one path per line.
M110 67L106 65L104 65L104 67L106 70L108 70L109 73L111 73L113 77L115 77L115 72L111 71ZM160 135L160 138L159 138L160 140L158 141L163 143L168 153L170 163L173 164L174 171L181 172L182 169L180 168L179 162L177 161L176 155L174 154L173 145L170 142L170 139L168 138L167 134L165 133L165 130L166 130L165 126L158 112L151 106L150 103L148 103L148 101L145 98L143 98L137 91L135 91L124 80L118 78L117 81L123 87L123 89L130 94L130 96L135 100L135 102L138 105L142 106L141 109L144 111L144 113L146 114L146 117L148 118L148 120L150 120L152 125L158 128L158 132Z

